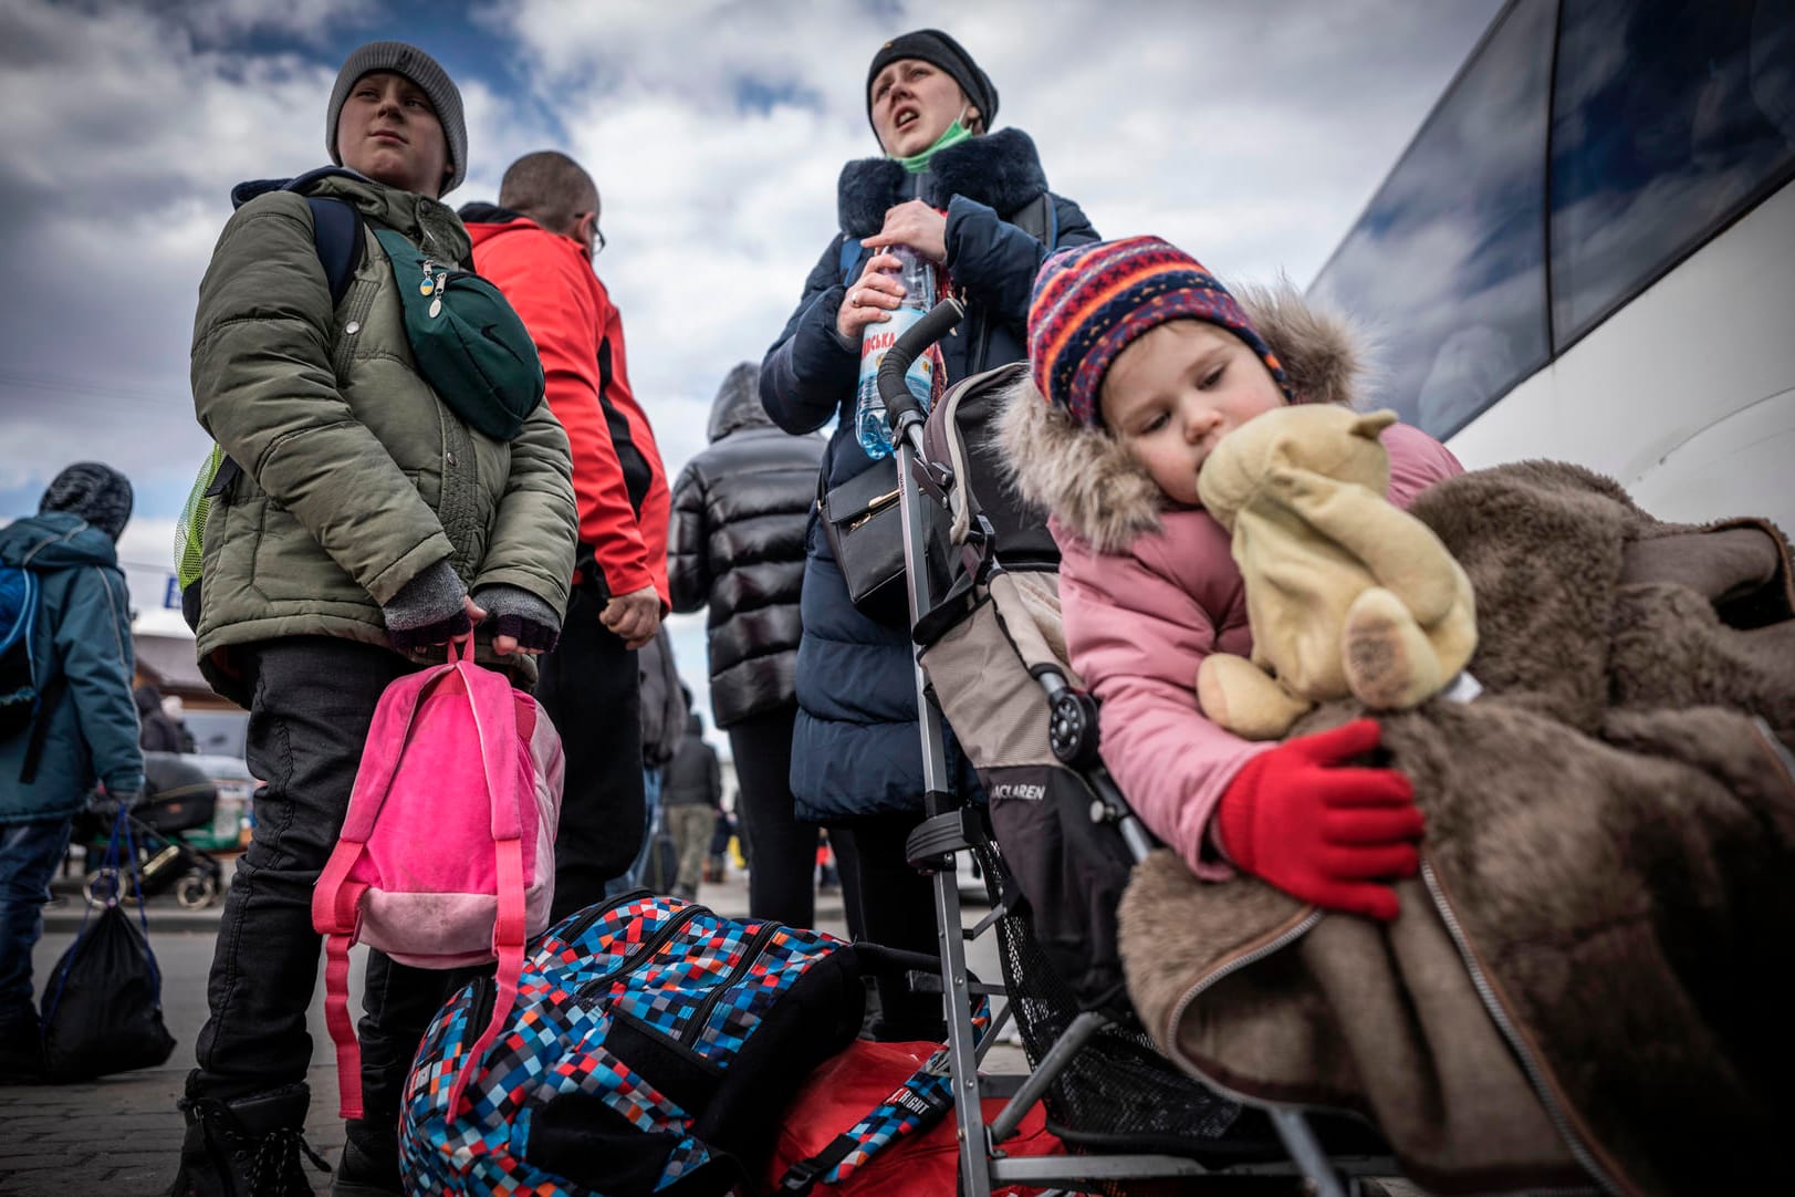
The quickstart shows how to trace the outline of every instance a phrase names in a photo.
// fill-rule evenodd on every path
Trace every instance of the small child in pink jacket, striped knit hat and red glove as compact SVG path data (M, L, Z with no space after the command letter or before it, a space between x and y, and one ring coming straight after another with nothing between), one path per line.
M1348 765L1377 748L1377 725L1357 725L1344 748L1249 743L1195 700L1203 657L1246 655L1251 639L1228 533L1197 502L1203 459L1273 407L1352 402L1343 332L1289 300L1260 307L1282 318L1265 336L1156 237L1057 255L1030 309L1039 398L1012 404L1007 447L1023 492L1054 513L1072 664L1104 703L1104 757L1142 820L1201 878L1239 867L1303 901L1393 919L1379 879L1414 872L1422 824L1407 781ZM1384 443L1398 506L1459 472L1420 429L1395 425ZM1316 829L1334 813L1375 826L1327 843Z

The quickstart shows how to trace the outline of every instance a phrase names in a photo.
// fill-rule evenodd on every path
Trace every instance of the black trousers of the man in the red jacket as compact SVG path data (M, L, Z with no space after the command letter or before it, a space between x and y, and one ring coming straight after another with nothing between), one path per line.
M576 589L555 651L538 659L537 702L555 720L567 761L555 833L553 921L605 897L635 860L646 829L643 700L635 650L598 621L603 603Z

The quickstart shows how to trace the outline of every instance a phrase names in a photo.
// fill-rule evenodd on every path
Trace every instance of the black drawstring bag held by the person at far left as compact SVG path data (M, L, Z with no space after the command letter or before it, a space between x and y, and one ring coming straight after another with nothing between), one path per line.
M142 928L118 904L120 869L136 872L126 818L120 808L102 863L113 870L113 897L97 919L83 921L43 992L43 1073L56 1084L154 1068L174 1052L162 1023L162 971L149 949L142 887L133 887Z

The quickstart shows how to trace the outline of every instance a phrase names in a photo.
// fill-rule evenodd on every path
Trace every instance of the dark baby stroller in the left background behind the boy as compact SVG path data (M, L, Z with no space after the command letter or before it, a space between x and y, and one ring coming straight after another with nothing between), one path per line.
M224 888L224 869L181 833L212 826L217 786L205 770L174 752L145 752L144 782L144 800L126 817L136 847L135 874L101 863L117 804L97 799L77 817L75 838L88 845L81 892L90 906L104 908L108 901L149 897L172 887L174 901L185 910L210 906Z

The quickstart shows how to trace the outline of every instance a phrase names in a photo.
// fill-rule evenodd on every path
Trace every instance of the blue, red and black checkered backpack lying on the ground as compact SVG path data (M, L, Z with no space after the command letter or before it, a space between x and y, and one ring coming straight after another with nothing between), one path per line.
M535 942L510 1021L454 1111L449 1095L490 1018L492 982L463 987L431 1023L400 1114L406 1192L757 1192L799 1086L860 1034L874 957L903 964L824 931L648 892L587 906ZM844 1179L950 1104L946 1077L919 1073L793 1168L786 1188Z

